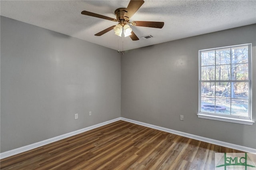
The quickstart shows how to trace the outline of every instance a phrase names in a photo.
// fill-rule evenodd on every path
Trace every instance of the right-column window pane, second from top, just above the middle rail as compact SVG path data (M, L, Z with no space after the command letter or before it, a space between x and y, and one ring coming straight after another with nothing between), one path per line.
M232 80L248 80L248 64L232 64Z

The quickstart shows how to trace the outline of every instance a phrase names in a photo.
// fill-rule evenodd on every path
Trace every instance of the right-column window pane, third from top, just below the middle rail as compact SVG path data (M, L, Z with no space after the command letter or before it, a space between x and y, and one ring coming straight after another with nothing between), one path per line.
M248 82L236 82L232 83L232 98L248 99L249 85Z

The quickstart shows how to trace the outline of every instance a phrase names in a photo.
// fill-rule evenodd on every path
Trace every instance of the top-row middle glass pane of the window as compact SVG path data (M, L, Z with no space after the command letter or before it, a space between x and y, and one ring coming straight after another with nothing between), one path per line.
M230 48L216 50L216 65L230 64Z

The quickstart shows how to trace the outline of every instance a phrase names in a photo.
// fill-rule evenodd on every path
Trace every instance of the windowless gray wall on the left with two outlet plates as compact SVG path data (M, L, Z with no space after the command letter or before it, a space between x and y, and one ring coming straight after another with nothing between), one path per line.
M1 152L120 117L120 80L116 51L1 16Z

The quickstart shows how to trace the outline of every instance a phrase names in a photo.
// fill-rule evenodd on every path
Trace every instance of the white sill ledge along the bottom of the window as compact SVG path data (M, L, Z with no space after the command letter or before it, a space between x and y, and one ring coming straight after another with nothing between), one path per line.
M244 125L253 125L253 123L254 123L254 121L251 121L251 120L227 118L227 117L220 117L220 116L215 116L215 115L206 115L206 114L202 114L202 113L197 114L197 116L199 118L203 118L203 119L211 119L211 120L216 120L216 121L239 123L239 124L244 124Z

